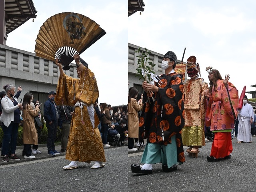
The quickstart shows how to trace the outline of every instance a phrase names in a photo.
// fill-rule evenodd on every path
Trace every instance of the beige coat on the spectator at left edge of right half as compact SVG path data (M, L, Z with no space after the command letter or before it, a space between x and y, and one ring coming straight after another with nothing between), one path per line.
M131 98L128 103L128 137L139 138L139 119L138 111L142 108L142 102L137 103L136 99Z

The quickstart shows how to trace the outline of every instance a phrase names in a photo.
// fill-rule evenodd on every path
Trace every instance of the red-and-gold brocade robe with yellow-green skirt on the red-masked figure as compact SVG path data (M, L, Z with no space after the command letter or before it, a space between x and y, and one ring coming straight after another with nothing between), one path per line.
M187 80L184 85L185 126L182 142L186 146L205 146L204 140L204 90L208 84L201 78Z

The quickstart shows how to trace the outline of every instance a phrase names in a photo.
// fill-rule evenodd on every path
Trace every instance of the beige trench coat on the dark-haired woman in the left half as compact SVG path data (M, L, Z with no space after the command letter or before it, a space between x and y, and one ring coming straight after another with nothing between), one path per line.
M23 144L38 145L38 135L36 132L36 126L34 117L38 115L38 109L34 110L31 105L28 108L23 108Z

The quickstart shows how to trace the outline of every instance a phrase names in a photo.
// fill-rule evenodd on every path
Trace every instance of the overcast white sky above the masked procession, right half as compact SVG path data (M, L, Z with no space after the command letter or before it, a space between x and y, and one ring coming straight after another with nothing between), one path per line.
M172 50L184 61L196 56L209 83L207 66L240 93L256 88L256 16L254 0L144 0L144 12L128 17L128 42L161 54ZM251 94L246 94L252 98Z

